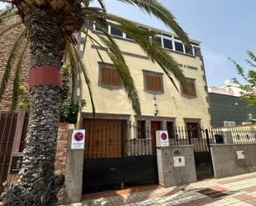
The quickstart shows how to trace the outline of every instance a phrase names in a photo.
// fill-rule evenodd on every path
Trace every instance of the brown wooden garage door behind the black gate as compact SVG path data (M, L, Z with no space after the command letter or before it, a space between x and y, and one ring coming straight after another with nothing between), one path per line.
M85 159L122 156L125 121L85 119Z

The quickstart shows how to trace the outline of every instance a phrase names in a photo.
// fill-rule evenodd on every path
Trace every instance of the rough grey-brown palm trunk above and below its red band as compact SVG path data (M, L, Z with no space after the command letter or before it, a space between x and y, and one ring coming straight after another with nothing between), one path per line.
M27 7L24 13L30 41L31 68L52 66L60 69L65 48L61 15L48 8L36 7ZM22 170L18 186L12 188L20 200L8 200L7 195L5 205L56 205L56 190L64 182L62 176L54 175L60 88L56 85L36 85L31 88L30 94L30 117Z

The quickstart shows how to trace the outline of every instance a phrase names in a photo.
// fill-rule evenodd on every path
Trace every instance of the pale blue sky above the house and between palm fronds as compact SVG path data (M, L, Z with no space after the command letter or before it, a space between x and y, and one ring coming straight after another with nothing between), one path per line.
M117 0L106 0L108 11L130 20L168 30L161 22ZM160 0L193 39L202 41L209 86L237 77L231 57L241 65L246 51L256 52L256 1ZM0 5L1 7L1 5Z

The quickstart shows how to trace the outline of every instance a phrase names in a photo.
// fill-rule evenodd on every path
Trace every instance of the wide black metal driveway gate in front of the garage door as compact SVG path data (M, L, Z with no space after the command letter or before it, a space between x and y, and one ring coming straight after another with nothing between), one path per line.
M152 139L128 139L126 120L85 120L83 194L156 184Z

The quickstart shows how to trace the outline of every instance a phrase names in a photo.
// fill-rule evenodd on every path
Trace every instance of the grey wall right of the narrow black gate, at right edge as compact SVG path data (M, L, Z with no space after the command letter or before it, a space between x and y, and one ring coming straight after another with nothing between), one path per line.
M256 171L256 144L211 145L215 178Z

